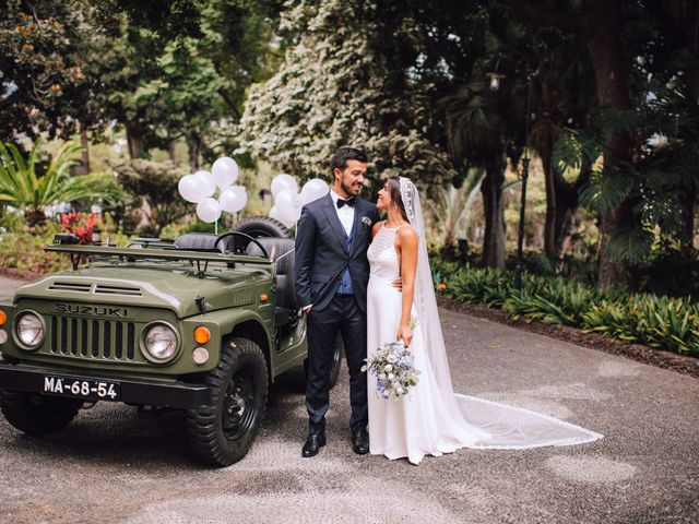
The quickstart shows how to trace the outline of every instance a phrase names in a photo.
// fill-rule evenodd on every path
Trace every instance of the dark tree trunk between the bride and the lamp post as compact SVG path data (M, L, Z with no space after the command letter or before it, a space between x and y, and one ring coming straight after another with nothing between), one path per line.
M483 239L483 265L505 267L505 152L496 154L486 166L486 175L481 184L485 236Z

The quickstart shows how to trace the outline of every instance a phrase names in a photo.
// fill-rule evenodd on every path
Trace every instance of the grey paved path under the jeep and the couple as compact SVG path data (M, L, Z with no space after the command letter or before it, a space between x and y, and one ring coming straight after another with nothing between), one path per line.
M12 281L0 278L0 296ZM4 287L3 287L4 286ZM457 391L599 431L578 446L461 450L419 466L357 456L346 372L328 445L301 458L298 374L249 455L192 462L176 414L110 404L27 438L0 419L0 522L665 523L699 521L699 380L441 310Z

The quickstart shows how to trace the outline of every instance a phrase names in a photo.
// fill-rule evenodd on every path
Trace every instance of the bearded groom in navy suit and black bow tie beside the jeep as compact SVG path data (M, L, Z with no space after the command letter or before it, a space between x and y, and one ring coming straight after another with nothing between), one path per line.
M337 332L350 369L352 445L369 452L367 433L367 248L379 221L374 204L358 198L367 155L340 147L331 157L334 177L330 194L305 205L296 228L296 299L308 325L308 439L301 450L315 456L325 445L325 413L330 403L330 369Z

